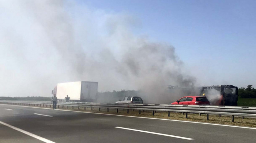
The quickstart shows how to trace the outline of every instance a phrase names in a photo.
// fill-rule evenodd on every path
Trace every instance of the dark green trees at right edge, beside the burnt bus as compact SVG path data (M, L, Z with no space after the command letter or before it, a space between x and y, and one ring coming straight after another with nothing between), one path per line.
M248 85L247 88L239 88L238 98L256 98L256 89L252 85Z

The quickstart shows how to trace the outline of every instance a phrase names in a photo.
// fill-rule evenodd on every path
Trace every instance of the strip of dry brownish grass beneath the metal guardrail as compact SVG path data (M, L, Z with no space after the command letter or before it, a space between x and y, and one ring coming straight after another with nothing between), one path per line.
M52 107L52 106L51 106ZM45 107L44 107L45 108ZM47 108L50 108L49 106ZM58 105L57 105L58 109ZM168 117L167 112L160 112L157 111L154 113L154 116L152 115L152 111L144 111L141 110L141 114L139 114L138 110L129 110L129 113L127 113L127 110L118 109L118 113L114 109L109 109L109 112L107 112L106 108L101 108L101 111L99 111L99 108L84 108L78 109L77 106L74 106L74 109L72 107L67 108L67 106L59 106L59 109L64 110L72 110L72 111L84 111L84 112L93 112L93 113L106 113L106 114L113 114L113 115L125 115L125 116L137 116L137 117L150 117L150 118L160 118L160 119L171 119L171 120L183 120L183 121L196 121L196 122L203 122L203 123L215 123L215 124L225 124L225 125L236 125L236 126L243 126L243 127L256 127L256 119L255 118L249 118L249 117L234 117L234 122L232 122L231 116L221 116L218 115L209 115L209 120L206 120L206 115L202 114L199 116L199 114L193 114L189 113L188 118L186 119L185 114L182 113L173 113L170 112L170 117Z

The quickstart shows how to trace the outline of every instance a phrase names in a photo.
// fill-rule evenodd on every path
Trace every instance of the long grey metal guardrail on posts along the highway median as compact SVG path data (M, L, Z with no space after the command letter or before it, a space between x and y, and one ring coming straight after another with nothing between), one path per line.
M12 105L25 105L25 106L37 106L37 107L51 107L51 102L47 101L0 101L0 104L12 104ZM84 108L106 108L109 112L109 109L115 109L118 113L118 109L126 109L127 113L129 110L138 110L139 114L141 111L152 111L152 115L156 111L167 112L168 116L170 116L170 112L182 112L185 113L186 118L188 117L188 113L199 113L206 114L206 119L209 120L209 115L215 114L219 115L228 115L232 117L232 122L234 122L234 116L241 116L244 119L246 117L256 117L256 107L225 107L225 106L201 106L201 105L161 105L161 104L113 104L113 103L57 103L58 108L67 108L78 107Z

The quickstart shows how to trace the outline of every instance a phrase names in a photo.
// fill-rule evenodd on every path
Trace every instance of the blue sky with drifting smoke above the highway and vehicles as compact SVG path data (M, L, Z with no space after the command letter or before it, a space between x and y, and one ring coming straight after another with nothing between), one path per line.
M0 96L256 86L255 1L0 0ZM154 91L152 91L154 90Z

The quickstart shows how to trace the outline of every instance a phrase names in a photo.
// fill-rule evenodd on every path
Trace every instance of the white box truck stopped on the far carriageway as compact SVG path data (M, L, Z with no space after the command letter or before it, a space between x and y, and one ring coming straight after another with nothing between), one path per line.
M58 100L65 100L70 97L70 101L94 102L97 100L98 82L76 81L57 84L52 90Z

